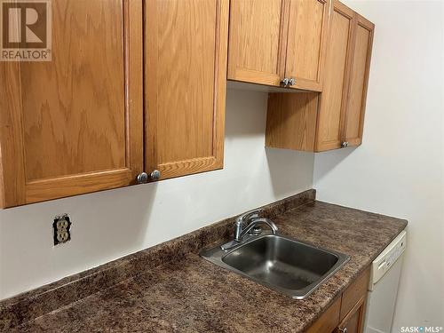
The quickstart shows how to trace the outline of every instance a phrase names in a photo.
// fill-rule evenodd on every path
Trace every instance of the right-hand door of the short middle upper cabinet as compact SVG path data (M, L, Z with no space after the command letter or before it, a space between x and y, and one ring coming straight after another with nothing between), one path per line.
M322 90L322 69L329 22L329 0L289 0L285 77L291 88Z

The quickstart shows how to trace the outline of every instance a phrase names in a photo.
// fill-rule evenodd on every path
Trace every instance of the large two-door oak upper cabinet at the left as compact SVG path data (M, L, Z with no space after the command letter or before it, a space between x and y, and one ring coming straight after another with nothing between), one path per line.
M53 1L52 61L0 61L0 207L221 169L228 8Z

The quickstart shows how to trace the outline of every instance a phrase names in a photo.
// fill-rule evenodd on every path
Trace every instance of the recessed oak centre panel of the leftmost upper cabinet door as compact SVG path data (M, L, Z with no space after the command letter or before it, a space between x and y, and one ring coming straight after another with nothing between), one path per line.
M27 180L123 168L122 1L58 0L52 23L52 61L21 64Z

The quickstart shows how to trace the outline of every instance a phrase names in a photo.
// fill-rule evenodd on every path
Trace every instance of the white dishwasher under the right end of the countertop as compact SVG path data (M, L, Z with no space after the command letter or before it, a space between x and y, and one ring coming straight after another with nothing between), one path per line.
M402 254L406 249L403 230L373 261L367 297L366 333L390 333L400 282Z

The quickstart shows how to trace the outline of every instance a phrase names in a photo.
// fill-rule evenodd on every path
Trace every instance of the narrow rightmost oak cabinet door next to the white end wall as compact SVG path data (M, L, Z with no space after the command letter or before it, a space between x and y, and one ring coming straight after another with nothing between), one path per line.
M345 119L345 141L348 146L359 146L362 142L375 25L355 13L354 29L353 61Z

